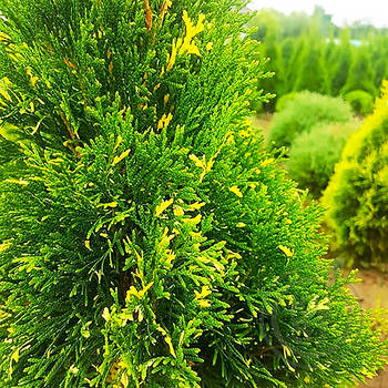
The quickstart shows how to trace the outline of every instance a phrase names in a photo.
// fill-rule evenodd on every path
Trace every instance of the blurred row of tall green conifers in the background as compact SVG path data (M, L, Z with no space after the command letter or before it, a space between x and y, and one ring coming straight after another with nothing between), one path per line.
M388 78L387 29L357 23L338 28L319 8L312 17L263 10L249 27L252 38L262 43L262 58L270 58L266 69L275 73L257 88L277 98L303 90L333 96L363 90L375 99ZM274 105L272 101L265 109L273 111Z

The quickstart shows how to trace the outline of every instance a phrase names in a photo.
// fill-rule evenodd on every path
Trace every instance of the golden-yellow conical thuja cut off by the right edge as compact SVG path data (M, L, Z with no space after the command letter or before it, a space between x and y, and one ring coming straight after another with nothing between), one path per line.
M327 222L349 264L387 261L388 84L347 142L324 196Z

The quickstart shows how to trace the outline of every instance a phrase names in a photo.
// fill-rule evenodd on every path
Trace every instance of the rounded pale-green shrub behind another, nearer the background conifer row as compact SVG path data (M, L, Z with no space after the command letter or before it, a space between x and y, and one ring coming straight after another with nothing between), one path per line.
M275 113L269 127L269 142L275 147L289 146L295 137L309 132L317 123L346 123L351 109L339 98L302 92Z

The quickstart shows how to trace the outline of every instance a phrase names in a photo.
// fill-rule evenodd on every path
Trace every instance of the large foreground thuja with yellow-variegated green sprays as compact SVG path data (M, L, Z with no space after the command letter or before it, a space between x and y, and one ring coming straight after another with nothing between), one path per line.
M1 116L24 135L1 169L3 385L330 387L384 366L320 258L321 211L246 124L244 2L0 4Z

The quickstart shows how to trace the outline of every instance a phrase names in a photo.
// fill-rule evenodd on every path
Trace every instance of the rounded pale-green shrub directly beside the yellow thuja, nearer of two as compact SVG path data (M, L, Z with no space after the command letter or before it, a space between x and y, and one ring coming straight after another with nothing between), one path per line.
M318 198L334 173L335 164L340 160L347 139L359 125L358 121L325 123L298 135L286 163L289 176Z

